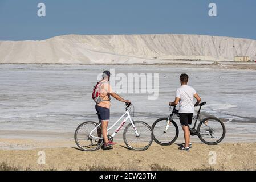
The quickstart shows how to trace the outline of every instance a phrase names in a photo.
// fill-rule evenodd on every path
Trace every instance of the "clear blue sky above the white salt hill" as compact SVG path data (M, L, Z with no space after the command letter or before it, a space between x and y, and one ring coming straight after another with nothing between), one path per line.
M38 3L46 17L37 16ZM208 5L217 4L217 17ZM0 40L64 34L204 34L256 39L255 0L0 0Z

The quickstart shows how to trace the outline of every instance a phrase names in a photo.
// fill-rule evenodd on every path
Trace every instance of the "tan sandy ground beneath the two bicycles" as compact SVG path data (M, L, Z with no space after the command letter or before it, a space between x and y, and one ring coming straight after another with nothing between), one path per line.
M32 144L33 142L33 140L19 139L1 139L0 141L1 144ZM71 143L71 141L67 143ZM178 143L172 146L159 146L153 143L146 151L132 151L128 150L125 144L118 143L111 150L94 152L80 151L76 147L0 150L0 162L34 170L50 168L76 170L79 167L86 168L88 166L118 167L123 170L149 170L153 164L177 170L190 170L211 167L209 160L212 162L213 160L211 160L210 154L216 154L216 164L212 165L214 169L256 169L256 143L222 143L217 146L194 143L189 152L180 151L178 147ZM44 151L46 155L46 164L43 166L38 164L39 151Z

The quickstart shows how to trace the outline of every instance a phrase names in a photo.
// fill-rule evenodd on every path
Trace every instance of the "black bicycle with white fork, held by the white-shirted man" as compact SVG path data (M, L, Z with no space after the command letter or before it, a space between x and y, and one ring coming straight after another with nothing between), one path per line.
M200 118L201 107L205 104L206 102L198 104L200 109L195 118L194 127L189 127L190 135L197 135L205 144L215 145L224 139L226 129L224 123L216 117ZM157 119L152 125L154 140L162 146L173 144L178 138L178 126L172 119L174 114L179 117L178 110L176 106L169 106L169 110L170 116L168 118ZM197 121L200 121L200 123L196 129Z

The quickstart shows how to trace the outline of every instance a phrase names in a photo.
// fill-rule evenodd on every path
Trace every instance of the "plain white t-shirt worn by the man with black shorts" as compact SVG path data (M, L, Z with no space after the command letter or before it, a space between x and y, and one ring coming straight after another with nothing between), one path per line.
M194 94L196 90L188 85L182 85L176 90L176 97L180 98L179 113L194 113Z

